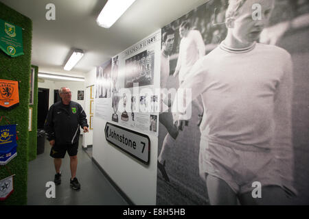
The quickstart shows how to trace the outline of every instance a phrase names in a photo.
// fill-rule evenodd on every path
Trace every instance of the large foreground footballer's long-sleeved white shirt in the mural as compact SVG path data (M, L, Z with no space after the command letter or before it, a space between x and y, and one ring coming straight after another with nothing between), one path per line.
M293 64L288 52L259 43L231 49L222 42L194 64L190 78L179 87L185 88L192 89L192 100L178 91L173 112L177 101L188 103L201 95L203 138L272 149L282 161L282 176L293 179ZM179 113L173 116L187 119Z

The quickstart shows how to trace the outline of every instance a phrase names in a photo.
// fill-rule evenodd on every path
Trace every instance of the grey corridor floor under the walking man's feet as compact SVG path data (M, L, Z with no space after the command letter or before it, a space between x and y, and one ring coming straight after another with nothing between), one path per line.
M54 161L49 157L50 146L45 141L45 151L37 155L28 165L27 205L128 205L113 185L104 177L91 160L91 156L78 148L78 170L76 177L81 184L79 191L71 190L69 179L69 155L62 159L62 183L56 186L56 198L47 198L45 187L48 181L54 181Z

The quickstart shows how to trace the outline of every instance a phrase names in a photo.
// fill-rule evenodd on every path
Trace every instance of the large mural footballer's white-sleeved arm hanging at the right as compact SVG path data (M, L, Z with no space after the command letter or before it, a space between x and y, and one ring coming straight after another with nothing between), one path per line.
M292 143L293 64L290 55L288 60L284 62L286 68L275 95L273 149L279 162L280 177L289 184L293 181L294 170Z

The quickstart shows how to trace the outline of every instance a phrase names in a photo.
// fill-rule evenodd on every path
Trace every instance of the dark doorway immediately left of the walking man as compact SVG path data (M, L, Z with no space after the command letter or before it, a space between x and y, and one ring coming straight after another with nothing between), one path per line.
M38 88L38 129L44 128L49 105L49 89Z

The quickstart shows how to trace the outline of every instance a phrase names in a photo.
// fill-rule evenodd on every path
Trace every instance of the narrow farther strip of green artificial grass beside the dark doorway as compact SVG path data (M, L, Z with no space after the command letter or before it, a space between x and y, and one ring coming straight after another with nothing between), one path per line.
M32 131L29 132L29 146L28 155L29 161L36 159L36 147L37 147L37 129L38 129L38 66L32 66L34 68L34 90L33 90L33 105L32 107Z

